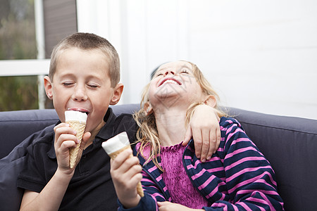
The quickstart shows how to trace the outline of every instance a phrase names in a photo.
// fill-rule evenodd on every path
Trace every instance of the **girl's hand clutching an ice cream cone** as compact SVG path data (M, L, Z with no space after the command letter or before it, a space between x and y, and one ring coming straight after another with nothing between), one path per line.
M136 207L140 196L137 194L137 184L142 179L142 167L139 159L127 149L118 154L115 159L111 158L110 173L120 203L125 208Z

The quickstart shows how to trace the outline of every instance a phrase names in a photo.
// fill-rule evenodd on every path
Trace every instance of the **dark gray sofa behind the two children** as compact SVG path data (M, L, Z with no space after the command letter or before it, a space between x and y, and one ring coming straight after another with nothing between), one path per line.
M132 113L139 106L112 108L118 115ZM237 108L229 111L271 162L285 210L317 210L317 120ZM23 191L15 187L15 180L25 159L25 148L30 144L27 136L52 127L57 121L55 110L0 112L0 210L19 208Z

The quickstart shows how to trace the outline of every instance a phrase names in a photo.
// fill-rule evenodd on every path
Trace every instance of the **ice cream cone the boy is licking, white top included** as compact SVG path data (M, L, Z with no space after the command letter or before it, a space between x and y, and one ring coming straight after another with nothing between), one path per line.
M70 124L70 127L77 132L76 138L80 141L76 144L75 148L70 148L69 150L69 165L70 168L73 168L82 141L82 135L85 131L87 114L75 110L67 110L65 112L65 119L66 123Z

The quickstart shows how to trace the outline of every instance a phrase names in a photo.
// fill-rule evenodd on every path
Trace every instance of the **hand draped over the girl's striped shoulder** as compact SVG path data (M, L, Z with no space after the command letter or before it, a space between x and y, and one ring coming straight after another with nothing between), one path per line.
M194 110L182 145L187 145L189 140L193 138L195 154L201 162L210 160L213 153L218 150L220 143L219 120L216 110L211 106L199 105Z

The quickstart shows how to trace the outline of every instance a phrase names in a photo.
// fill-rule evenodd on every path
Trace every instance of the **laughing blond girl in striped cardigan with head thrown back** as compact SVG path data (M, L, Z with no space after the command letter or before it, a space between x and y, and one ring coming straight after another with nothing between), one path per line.
M218 110L221 130L218 151L206 162L194 155L193 141L182 146L191 115L203 103ZM283 210L270 163L240 123L218 108L218 95L196 65L161 65L141 108L135 114L139 160L123 151L111 161L119 210Z

